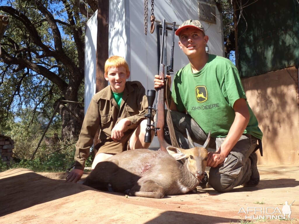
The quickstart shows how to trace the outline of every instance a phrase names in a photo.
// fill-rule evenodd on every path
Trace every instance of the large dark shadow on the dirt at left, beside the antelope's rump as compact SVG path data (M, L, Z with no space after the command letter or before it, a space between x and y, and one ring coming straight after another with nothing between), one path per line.
M17 171L15 176L6 175L13 175L13 170L0 173L0 216L86 191L77 183L50 179L27 169Z

